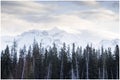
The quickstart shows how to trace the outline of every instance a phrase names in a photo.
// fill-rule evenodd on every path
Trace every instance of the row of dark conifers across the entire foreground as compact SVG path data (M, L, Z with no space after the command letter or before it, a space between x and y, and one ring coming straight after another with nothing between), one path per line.
M17 55L19 54L19 57ZM119 79L119 46L95 49L66 46L49 49L34 40L26 50L17 51L17 43L1 52L2 79Z

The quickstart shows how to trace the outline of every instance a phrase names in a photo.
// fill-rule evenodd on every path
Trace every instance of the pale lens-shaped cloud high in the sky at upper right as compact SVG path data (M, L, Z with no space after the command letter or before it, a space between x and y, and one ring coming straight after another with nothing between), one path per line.
M74 13L73 13L74 14ZM114 21L118 20L118 14L107 10L107 9L91 9L87 11L77 11L75 12L80 18L93 20L93 21Z

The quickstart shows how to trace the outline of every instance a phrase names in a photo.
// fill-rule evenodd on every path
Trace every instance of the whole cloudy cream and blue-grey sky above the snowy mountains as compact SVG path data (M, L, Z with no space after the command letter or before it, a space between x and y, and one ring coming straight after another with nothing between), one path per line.
M54 27L69 33L88 31L108 39L119 36L118 1L2 1L1 35Z

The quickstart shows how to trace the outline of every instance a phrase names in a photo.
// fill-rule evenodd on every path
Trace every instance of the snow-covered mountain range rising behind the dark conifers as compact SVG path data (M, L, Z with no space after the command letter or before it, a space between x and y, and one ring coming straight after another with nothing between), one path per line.
M61 47L64 42L67 45L68 44L72 45L72 43L75 43L76 46L82 47L85 47L87 44L92 43L92 45L96 48L100 46L104 46L105 48L107 47L114 48L115 45L119 44L120 42L119 39L100 40L96 42L94 40L94 36L90 35L89 32L86 33L85 31L83 31L82 33L73 34L67 33L55 27L51 30L30 30L15 37L10 36L1 37L1 50L5 49L6 45L9 45L11 47L14 39L17 41L18 49L20 49L23 48L24 45L26 46L32 45L34 38L38 43L42 43L42 46L46 48L52 46L53 43L56 43L57 47Z

